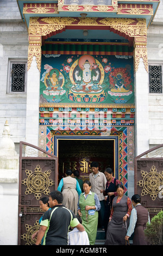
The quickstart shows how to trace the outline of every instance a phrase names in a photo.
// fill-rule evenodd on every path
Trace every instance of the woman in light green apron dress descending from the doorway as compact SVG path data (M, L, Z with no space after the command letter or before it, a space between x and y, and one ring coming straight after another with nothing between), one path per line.
M80 194L78 201L78 215L82 217L82 225L89 236L90 245L95 245L98 225L98 211L101 209L96 193L91 192L91 183L85 180L84 193Z

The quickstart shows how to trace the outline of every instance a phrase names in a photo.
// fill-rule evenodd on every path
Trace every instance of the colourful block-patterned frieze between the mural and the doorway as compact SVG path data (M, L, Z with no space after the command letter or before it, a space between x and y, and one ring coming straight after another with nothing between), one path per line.
M51 111L49 110L51 109ZM110 125L134 125L133 108L42 108L40 124L54 130L110 130Z

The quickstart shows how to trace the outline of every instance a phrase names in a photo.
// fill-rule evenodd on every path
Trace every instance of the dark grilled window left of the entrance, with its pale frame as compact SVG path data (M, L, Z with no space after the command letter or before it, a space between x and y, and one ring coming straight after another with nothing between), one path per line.
M8 93L26 93L27 62L9 62Z

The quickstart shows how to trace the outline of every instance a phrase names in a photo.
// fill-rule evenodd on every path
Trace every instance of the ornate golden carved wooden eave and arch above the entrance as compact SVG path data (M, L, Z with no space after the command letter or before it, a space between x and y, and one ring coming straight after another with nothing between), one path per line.
M83 3L83 4L82 4ZM41 45L46 38L66 29L97 29L114 32L134 42L135 71L143 58L147 64L147 28L152 23L160 0L17 0L22 20L29 33L28 69L33 56L41 69ZM76 17L74 17L74 14ZM64 17L63 17L64 16Z

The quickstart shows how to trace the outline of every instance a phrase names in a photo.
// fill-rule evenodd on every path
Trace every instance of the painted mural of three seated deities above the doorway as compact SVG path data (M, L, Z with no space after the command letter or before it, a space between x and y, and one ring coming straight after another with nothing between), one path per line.
M134 103L132 56L42 55L40 103Z

